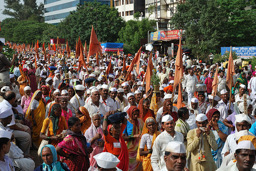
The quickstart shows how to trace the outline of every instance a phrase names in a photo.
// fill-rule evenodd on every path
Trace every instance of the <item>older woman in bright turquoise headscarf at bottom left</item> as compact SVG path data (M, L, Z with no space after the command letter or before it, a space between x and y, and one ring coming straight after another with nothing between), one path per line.
M57 161L57 152L53 145L45 145L41 149L41 158L44 161L34 171L70 171L66 163Z

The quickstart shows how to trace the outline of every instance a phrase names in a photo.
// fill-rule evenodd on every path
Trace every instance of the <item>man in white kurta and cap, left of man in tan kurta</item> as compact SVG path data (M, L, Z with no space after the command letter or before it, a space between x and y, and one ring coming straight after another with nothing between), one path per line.
M152 147L151 165L154 171L159 171L164 167L164 152L169 142L184 142L182 133L174 131L175 122L171 115L163 116L162 127L164 131L156 137Z

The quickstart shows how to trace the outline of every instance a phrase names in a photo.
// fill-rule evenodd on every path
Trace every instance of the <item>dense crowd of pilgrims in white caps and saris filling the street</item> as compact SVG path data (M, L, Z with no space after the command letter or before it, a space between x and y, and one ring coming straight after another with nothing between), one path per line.
M215 171L236 162L234 153L240 141L249 140L256 146L256 71L251 63L243 68L235 66L230 94L225 80L227 64L192 61L183 54L183 102L177 108L179 87L174 91L172 87L175 59L161 57L158 51L154 54L153 72L160 78L160 89L150 86L148 92L143 79L149 55L144 52L131 80L125 80L133 60L130 54L104 54L100 66L91 56L87 67L81 68L77 67L78 59L69 58L64 63L63 57L52 56L48 63L41 56L34 61L29 60L32 54L20 54L9 81L0 83L0 129L15 137L6 154L12 163L0 162L0 170L15 166L33 171L35 163L29 151L39 148L38 155L42 156L42 140L53 146L47 146L53 163L65 163L58 170L70 171L97 168L94 156L102 152L116 156L120 160L117 168L122 171L166 171L164 156L169 142L184 143L185 168ZM106 75L110 58L113 73ZM213 98L214 77L219 82ZM206 84L205 92L195 91L199 81ZM55 164L46 164L45 158L43 155L44 163L36 171L56 169Z

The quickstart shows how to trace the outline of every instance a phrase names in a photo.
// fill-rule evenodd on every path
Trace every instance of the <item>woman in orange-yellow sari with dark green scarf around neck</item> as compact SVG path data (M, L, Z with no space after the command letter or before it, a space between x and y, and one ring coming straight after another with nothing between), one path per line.
M56 147L59 142L63 140L62 136L57 136L62 133L63 130L68 129L65 118L61 116L61 105L53 103L50 106L48 117L44 120L40 138L49 140L49 144ZM48 129L48 135L46 136L46 130Z

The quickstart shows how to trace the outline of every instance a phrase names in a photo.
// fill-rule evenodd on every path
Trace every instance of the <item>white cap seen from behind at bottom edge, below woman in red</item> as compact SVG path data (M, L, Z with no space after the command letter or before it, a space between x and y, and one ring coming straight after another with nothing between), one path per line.
M120 162L117 157L108 152L99 153L93 156L93 158L96 160L97 165L103 169L115 168Z

